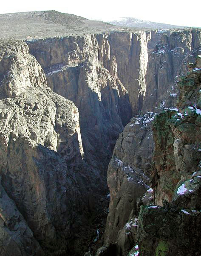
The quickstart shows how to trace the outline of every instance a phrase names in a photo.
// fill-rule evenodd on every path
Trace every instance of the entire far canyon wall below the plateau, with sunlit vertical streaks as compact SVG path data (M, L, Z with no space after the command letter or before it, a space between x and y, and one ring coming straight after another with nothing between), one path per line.
M156 102L174 85L184 56L200 45L200 38L199 30L187 29L27 43L45 70L48 86L78 107L85 159L104 173L123 126L139 110L156 112Z

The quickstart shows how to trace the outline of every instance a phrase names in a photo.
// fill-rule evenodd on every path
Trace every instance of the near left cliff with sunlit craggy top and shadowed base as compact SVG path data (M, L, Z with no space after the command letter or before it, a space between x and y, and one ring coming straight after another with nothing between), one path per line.
M25 43L0 42L0 76L1 255L79 254L101 176L83 160L78 109Z

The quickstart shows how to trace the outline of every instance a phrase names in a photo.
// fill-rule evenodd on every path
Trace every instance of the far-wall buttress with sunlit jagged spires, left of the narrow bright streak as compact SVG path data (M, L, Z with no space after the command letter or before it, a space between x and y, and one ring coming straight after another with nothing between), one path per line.
M45 70L48 86L79 108L85 159L106 176L116 139L132 114L108 36L46 39L28 45Z

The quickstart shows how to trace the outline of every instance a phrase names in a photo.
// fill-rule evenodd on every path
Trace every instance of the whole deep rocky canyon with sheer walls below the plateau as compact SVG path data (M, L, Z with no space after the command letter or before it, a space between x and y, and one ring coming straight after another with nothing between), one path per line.
M2 256L199 255L201 29L110 29L2 33Z

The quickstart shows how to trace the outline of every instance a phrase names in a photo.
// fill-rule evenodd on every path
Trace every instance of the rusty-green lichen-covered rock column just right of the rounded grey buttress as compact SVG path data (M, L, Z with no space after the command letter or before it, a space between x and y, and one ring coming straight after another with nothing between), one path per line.
M153 123L155 150L151 186L155 188L155 203L160 206L164 200L172 200L175 186L180 180L175 166L174 134L168 123L175 114L176 111L165 111L157 115Z

